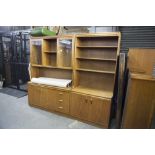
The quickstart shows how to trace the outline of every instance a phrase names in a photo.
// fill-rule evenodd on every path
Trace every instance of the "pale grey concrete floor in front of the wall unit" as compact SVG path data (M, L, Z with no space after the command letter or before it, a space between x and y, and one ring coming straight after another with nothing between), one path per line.
M0 93L1 129L97 129L80 121L46 112L28 105L28 97L16 98Z

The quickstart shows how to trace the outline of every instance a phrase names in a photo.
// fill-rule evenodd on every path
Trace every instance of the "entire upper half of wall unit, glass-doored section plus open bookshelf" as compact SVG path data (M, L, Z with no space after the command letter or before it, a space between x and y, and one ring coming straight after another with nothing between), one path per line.
M72 79L72 90L112 98L120 33L31 38L32 77Z

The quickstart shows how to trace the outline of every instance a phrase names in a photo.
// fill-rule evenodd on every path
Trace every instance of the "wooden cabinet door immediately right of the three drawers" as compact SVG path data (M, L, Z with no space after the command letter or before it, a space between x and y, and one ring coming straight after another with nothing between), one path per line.
M78 118L88 120L89 102L86 95L72 93L70 113Z

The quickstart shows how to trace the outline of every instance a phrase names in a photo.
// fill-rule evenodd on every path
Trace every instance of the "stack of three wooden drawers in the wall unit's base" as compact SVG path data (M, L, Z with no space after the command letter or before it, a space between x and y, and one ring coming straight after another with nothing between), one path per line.
M65 92L65 91L56 92L56 107L55 107L56 111L68 114L69 102L70 102L69 92Z

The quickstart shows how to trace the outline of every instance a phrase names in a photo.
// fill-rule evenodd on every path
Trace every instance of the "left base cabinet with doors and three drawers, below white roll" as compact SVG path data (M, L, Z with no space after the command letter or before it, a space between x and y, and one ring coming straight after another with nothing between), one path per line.
M29 104L47 110L69 113L69 92L42 85L28 84Z

